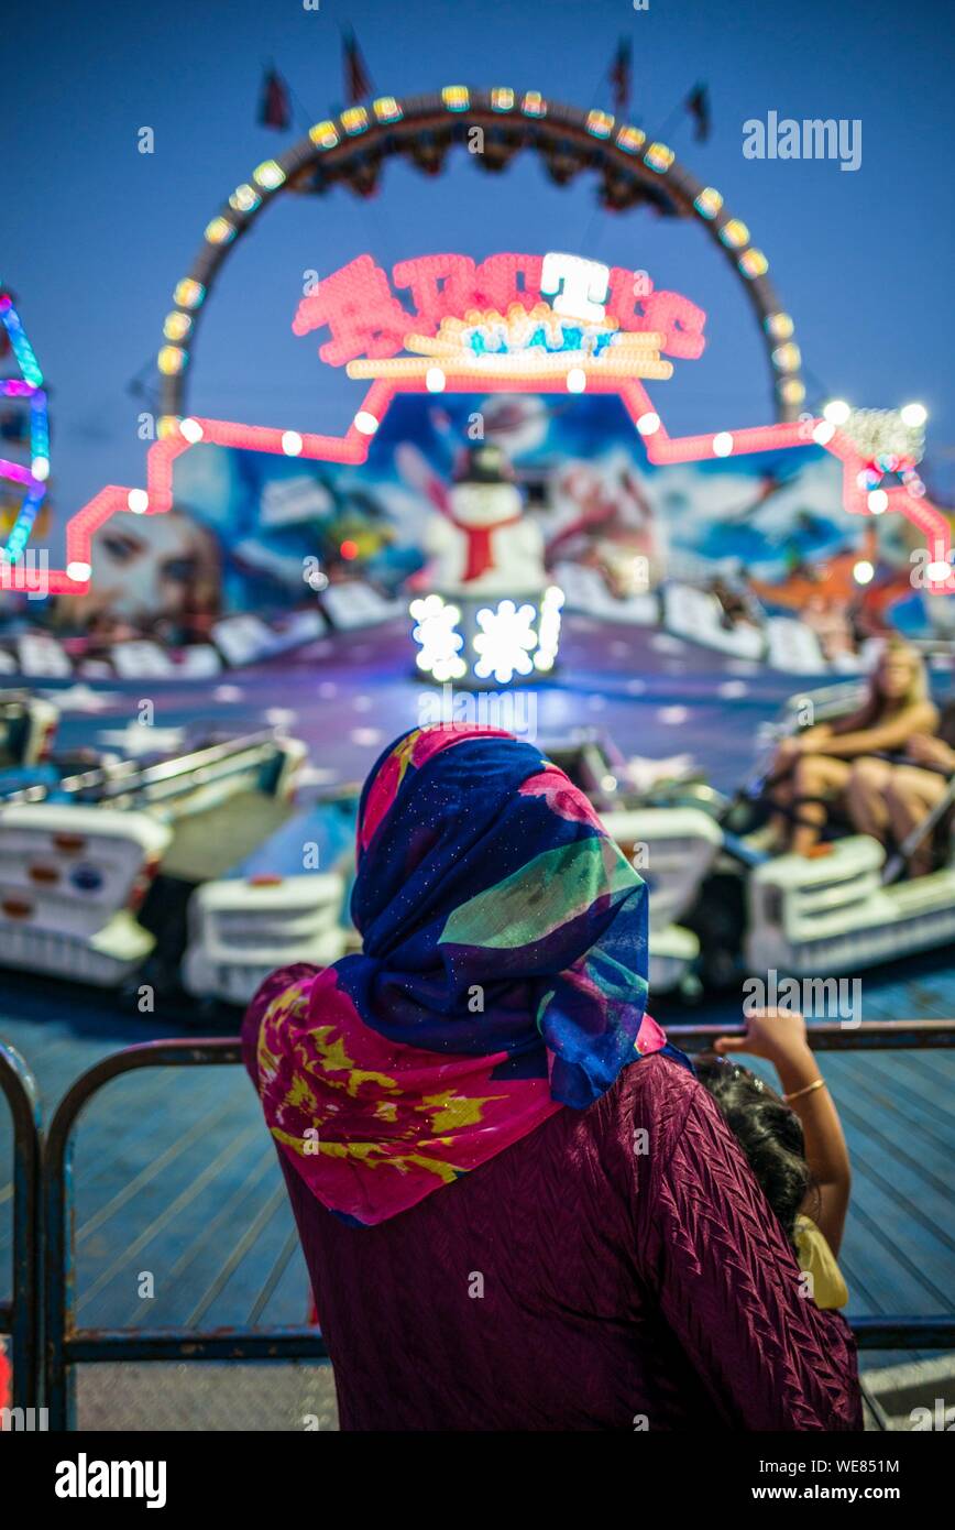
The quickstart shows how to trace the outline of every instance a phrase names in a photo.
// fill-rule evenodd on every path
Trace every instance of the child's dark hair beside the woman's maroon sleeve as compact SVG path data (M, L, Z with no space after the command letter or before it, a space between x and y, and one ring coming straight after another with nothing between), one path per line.
M696 1077L722 1111L762 1192L794 1242L796 1216L813 1178L802 1121L774 1089L748 1068L713 1053L693 1059Z

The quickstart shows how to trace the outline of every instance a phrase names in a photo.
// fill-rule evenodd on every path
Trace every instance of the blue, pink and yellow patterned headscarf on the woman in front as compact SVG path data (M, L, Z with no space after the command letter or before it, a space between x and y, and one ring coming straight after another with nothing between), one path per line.
M534 745L407 733L364 785L357 861L363 952L268 1002L257 1063L295 1170L369 1226L667 1042L644 1014L647 889Z

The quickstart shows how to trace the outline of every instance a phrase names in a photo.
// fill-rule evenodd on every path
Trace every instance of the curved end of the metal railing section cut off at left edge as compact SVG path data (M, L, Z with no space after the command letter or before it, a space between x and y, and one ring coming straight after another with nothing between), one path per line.
M12 1406L35 1408L40 1372L40 1102L14 1047L0 1042L0 1089L14 1131L12 1296L0 1302L0 1334L11 1336Z

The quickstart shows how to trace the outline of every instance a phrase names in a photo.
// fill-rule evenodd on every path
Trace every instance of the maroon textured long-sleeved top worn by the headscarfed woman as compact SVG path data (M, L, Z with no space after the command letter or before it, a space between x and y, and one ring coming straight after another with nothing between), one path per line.
M279 1157L343 1429L862 1429L848 1325L800 1297L742 1151L667 1057L376 1227Z

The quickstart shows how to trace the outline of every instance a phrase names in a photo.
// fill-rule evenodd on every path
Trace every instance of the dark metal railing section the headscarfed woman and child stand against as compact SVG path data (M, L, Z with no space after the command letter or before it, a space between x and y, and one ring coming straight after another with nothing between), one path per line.
M739 1028L738 1033L741 1034ZM667 1036L687 1051L709 1047L724 1025L672 1025ZM819 1051L865 1051L955 1047L953 1021L837 1022L810 1027ZM156 1066L223 1066L242 1062L237 1039L162 1040L129 1047L104 1057L70 1086L46 1138L43 1172L46 1405L51 1429L75 1423L75 1368L118 1360L328 1360L317 1328L78 1328L75 1325L72 1151L78 1117L89 1100L121 1074ZM955 1314L859 1317L852 1323L863 1349L955 1348Z

